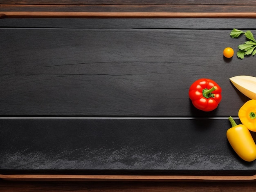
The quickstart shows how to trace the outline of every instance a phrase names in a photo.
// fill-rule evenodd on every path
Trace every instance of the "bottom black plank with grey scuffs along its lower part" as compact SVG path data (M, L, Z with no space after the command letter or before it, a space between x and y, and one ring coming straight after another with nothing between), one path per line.
M255 170L255 162L240 160L229 146L225 119L1 119L0 125L2 174Z

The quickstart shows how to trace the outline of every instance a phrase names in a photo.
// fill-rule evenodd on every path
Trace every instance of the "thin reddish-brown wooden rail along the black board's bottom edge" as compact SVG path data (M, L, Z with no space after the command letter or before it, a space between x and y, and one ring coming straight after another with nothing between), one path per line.
M0 179L16 181L255 181L251 176L193 175L68 175L68 174L0 174Z

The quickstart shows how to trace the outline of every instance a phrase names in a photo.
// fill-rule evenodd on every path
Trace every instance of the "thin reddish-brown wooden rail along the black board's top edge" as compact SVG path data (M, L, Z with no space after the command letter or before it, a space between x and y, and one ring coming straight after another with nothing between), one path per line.
M256 12L0 12L0 18L256 18Z

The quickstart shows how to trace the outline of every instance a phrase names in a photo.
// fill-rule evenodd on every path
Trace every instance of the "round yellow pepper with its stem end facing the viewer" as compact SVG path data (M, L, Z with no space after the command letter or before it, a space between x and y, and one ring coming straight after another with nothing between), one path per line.
M240 121L249 130L256 132L256 100L247 101L238 111Z

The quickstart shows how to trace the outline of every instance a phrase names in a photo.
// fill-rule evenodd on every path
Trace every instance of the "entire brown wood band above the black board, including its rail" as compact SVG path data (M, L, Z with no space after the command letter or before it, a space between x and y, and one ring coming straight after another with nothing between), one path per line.
M2 1L0 18L256 18L253 1Z

